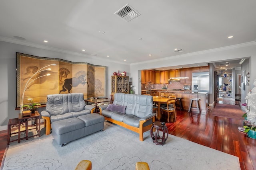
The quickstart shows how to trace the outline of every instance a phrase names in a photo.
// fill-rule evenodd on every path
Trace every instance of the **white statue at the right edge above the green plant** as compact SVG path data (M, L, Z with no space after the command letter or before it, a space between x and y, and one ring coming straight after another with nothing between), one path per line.
M247 105L249 107L249 110L246 111L247 119L252 123L256 122L256 80L254 80L253 85L255 87L245 97L248 100Z

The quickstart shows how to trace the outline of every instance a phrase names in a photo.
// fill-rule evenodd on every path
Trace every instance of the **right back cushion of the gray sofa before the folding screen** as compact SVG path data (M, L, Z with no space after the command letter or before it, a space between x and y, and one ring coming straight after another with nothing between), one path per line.
M84 110L84 94L69 93L68 94L68 112L78 112Z

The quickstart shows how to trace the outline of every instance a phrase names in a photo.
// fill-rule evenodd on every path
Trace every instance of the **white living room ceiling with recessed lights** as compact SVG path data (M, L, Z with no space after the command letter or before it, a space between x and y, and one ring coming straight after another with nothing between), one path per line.
M114 15L126 4L141 15ZM130 64L255 41L255 9L255 0L1 0L0 40Z

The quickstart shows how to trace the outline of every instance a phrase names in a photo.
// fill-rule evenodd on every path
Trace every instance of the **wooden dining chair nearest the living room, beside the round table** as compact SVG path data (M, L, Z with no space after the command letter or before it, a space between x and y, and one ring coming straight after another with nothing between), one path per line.
M161 112L167 112L167 121L170 121L170 114L173 113L174 121L176 121L177 111L175 106L176 100L171 98L166 101L166 106L160 106Z

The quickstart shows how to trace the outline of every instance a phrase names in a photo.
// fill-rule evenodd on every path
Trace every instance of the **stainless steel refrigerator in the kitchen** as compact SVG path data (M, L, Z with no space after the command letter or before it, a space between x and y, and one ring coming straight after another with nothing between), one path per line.
M208 92L209 95L209 72L192 73L192 92Z

